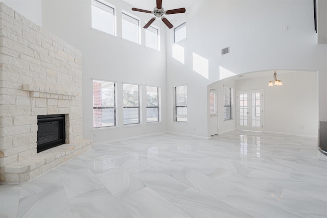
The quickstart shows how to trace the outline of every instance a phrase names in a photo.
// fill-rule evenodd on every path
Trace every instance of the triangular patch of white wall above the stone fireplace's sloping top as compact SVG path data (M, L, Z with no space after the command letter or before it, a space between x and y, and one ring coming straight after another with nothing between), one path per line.
M0 0L42 27L42 0Z

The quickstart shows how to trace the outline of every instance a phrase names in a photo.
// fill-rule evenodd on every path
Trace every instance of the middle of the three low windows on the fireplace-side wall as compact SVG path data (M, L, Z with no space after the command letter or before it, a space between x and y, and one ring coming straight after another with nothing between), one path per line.
M139 85L123 84L124 125L140 123L140 89Z

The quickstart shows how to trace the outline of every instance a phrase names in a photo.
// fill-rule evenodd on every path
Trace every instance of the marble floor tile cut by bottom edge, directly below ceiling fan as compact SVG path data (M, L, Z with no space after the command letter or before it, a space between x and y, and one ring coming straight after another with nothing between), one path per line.
M133 217L192 217L149 187L132 193L132 195L123 198L121 202Z

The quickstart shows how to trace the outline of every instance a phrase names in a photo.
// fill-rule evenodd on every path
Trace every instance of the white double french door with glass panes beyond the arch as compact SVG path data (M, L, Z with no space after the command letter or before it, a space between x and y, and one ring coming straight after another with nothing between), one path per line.
M263 132L263 91L240 91L237 100L238 129Z

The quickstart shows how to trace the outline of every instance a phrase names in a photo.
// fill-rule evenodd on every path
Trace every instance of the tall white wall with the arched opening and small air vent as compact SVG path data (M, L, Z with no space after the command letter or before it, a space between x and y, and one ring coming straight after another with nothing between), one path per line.
M327 120L327 44L317 44L311 0L202 1L186 11L188 38L178 44L184 49L184 64L172 57L172 31L167 30L167 105L172 107L172 87L187 83L189 123L172 122L169 109L169 131L208 137L207 85L226 72L319 71L319 119ZM286 26L288 31L284 31ZM221 56L226 46L230 54ZM193 53L209 61L207 78L193 70Z

